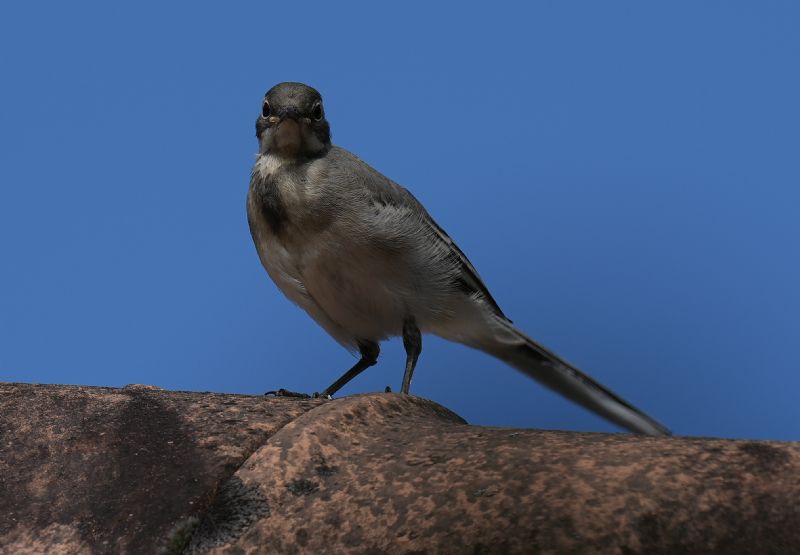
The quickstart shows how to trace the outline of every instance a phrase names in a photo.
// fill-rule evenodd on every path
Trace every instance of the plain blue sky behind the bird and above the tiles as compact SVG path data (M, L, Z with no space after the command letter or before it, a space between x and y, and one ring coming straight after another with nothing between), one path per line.
M797 3L333 4L0 7L0 380L314 391L352 364L247 229L254 119L295 80L530 335L676 433L800 439ZM614 429L436 338L412 391Z

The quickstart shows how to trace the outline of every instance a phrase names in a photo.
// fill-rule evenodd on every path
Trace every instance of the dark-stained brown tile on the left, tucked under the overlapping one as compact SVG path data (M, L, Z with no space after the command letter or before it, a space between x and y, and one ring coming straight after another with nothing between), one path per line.
M175 552L219 485L321 402L0 383L0 553Z

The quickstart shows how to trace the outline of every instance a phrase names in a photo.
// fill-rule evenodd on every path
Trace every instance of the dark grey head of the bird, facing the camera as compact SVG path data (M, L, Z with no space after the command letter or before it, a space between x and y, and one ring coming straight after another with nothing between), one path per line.
M302 83L278 83L264 95L256 119L261 154L284 158L313 158L331 146L322 96Z

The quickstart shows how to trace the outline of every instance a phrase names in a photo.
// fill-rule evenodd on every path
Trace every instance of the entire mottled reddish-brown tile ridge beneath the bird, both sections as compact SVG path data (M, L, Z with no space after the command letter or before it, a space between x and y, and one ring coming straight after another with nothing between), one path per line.
M2 553L797 553L800 444L0 385Z

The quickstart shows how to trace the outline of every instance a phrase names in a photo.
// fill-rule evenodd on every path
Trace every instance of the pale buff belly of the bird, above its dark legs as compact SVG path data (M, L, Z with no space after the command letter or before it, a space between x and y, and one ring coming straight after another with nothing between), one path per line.
M279 239L254 220L257 249L272 280L346 347L402 335L408 318L423 333L462 342L473 335L464 335L463 322L474 319L477 307L454 290L446 269L424 249L382 248L336 228L314 233L295 227Z

